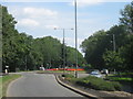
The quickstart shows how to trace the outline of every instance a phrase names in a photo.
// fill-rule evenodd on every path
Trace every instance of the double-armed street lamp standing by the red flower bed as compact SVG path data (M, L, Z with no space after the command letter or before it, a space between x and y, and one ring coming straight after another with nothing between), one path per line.
M62 30L63 31L63 74L64 74L64 68L65 68L65 41L64 41L64 37L65 37L65 34L64 34L64 31L65 30L73 30L73 29L58 29L58 28L54 28L54 30Z

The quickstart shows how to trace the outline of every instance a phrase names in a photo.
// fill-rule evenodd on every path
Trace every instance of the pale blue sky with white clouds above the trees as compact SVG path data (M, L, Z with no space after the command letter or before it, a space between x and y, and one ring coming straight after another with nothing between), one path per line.
M82 0L78 2L78 50L81 43L100 30L109 30L119 24L120 10L131 0ZM4 0L0 2L18 22L16 29L34 38L53 36L62 42L65 29L65 44L74 47L74 4L73 1Z

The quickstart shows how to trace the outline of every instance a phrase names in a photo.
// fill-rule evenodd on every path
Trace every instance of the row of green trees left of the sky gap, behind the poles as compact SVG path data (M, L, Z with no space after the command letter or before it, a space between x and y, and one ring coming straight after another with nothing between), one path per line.
M58 38L44 36L33 38L27 33L19 33L17 21L9 14L7 7L0 6L2 69L9 66L10 72L35 70L40 66L45 68L63 67L63 44ZM65 66L74 67L75 48L65 45ZM85 63L82 54L78 52L79 66Z

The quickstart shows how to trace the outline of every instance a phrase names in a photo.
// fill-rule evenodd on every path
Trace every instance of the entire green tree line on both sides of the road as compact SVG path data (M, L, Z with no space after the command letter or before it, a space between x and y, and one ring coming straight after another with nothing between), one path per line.
M11 72L63 67L63 44L52 36L33 38L19 33L17 21L7 7L0 6L0 41L2 42L2 68ZM132 72L133 66L133 2L121 10L120 23L109 31L100 30L85 38L78 52L78 64L85 68L108 68ZM75 48L65 45L65 65L75 66Z

